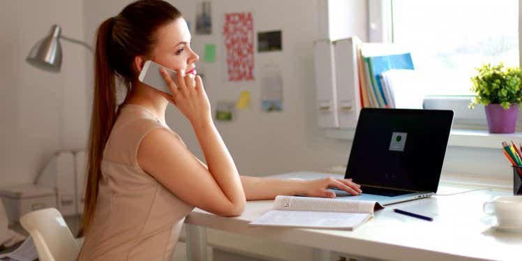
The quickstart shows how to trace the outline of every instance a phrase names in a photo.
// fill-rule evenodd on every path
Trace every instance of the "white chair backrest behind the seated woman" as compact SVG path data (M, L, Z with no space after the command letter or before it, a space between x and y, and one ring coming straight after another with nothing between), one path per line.
M58 209L40 209L20 218L22 227L33 238L41 261L73 261L80 247Z

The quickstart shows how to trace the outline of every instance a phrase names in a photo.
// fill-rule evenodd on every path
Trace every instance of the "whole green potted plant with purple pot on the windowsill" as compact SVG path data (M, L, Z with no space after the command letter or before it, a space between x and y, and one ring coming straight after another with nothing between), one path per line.
M482 104L490 133L514 133L516 118L522 103L522 74L520 68L505 68L504 64L484 64L471 77L476 96L470 108Z

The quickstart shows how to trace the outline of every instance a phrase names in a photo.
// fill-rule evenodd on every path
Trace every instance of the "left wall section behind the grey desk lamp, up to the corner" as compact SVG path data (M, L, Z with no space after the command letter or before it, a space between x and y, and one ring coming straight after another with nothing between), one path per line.
M0 1L0 186L31 182L54 151L84 147L84 47L62 43L59 74L25 62L52 24L83 38L82 0Z

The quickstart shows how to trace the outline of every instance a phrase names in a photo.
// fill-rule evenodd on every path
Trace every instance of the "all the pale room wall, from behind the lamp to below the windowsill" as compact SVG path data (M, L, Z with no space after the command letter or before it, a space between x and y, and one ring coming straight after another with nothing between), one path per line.
M196 2L171 2L194 28ZM54 23L61 25L66 36L93 44L100 22L116 15L128 3L127 0L0 1L3 58L0 186L31 182L54 151L84 147L87 138L93 58L84 47L62 42L62 71L52 74L25 63L30 48ZM284 112L260 112L259 80L239 83L224 80L223 15L244 10L253 12L256 32L283 30L283 52L255 52L255 77L259 79L260 68L265 64L280 64ZM357 15L360 14L351 16ZM217 122L239 171L261 175L344 165L350 142L325 138L316 124L312 43L320 24L318 1L213 1L212 18L211 36L193 34L193 45L200 54L204 44L218 45L216 62L197 65L207 76L205 88L212 105L215 107L217 100L236 99L243 90L251 91L253 98L251 110L238 111L236 121ZM188 147L203 158L190 125L172 105L167 121ZM465 148L448 149L444 171L502 177L509 177L510 173L499 151Z

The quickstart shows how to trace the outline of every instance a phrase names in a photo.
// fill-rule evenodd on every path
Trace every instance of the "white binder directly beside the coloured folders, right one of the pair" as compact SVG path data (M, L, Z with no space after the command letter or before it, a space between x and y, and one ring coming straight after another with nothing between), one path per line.
M357 45L361 41L350 37L334 41L336 103L339 128L355 128L361 110Z

